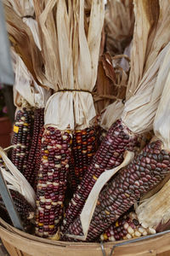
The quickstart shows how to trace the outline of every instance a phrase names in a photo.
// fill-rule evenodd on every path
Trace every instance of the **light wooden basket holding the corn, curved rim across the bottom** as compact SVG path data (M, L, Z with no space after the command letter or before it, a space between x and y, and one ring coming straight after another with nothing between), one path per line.
M99 243L50 241L15 229L0 218L0 237L11 256L169 256L170 232L120 246L120 242ZM133 240L131 240L133 241ZM111 253L112 247L116 245ZM117 246L119 245L119 246Z

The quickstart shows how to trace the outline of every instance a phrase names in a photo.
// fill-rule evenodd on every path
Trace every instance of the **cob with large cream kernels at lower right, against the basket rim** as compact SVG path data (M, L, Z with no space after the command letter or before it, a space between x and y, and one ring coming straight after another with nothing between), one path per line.
M137 238L139 236L147 236L156 234L156 230L145 229L139 224L136 213L130 212L118 218L114 224L111 224L105 233L100 235L101 241L119 241L122 239Z

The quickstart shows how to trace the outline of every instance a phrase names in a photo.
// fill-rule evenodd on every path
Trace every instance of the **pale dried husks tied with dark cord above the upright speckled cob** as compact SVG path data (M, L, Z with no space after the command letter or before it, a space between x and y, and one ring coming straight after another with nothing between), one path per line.
M51 6L52 8L53 6ZM58 47L55 46L55 48L58 49L59 55L57 53L55 55L58 58L59 67L58 79L55 79L57 83L55 82L51 88L55 91L87 90L89 92L60 91L51 96L45 109L45 125L55 125L59 130L66 128L72 130L75 127L84 129L89 126L90 120L94 119L96 115L90 92L92 92L97 78L104 2L96 0L92 2L88 35L84 30L86 16L84 16L83 1L69 2L68 12L65 1L58 1L56 9L56 45ZM50 9L47 6L42 15L39 15L39 26L42 28L43 36L46 35L44 36L46 41L48 40L47 27L44 25L47 24L47 21L53 23L53 20L49 20L49 12ZM47 43L48 48L52 43ZM42 49L45 47L42 46ZM50 68L48 69L50 72ZM53 76L53 74L51 75Z

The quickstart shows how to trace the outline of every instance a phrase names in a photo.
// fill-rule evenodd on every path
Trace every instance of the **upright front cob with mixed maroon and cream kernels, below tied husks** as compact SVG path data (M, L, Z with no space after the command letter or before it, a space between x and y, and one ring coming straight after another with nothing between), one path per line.
M53 236L63 218L71 144L71 131L48 127L43 132L37 177L37 236Z

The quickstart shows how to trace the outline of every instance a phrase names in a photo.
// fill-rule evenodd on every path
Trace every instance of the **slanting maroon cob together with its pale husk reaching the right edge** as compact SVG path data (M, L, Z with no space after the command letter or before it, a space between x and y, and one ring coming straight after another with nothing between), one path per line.
M143 9L144 13L150 11L149 7L146 5L145 9ZM138 4L136 8L139 9ZM137 25L139 24L140 16L136 16L135 22ZM140 27L137 27L138 29L135 30L135 34L138 34L140 31ZM137 42L134 41L133 48L136 49L136 47ZM125 104L122 119L117 120L111 126L97 154L94 155L94 160L89 166L88 172L82 179L81 185L77 188L74 198L65 212L62 232L65 233L71 222L77 217L77 214L81 213L82 207L100 174L105 172L105 170L119 166L122 163L125 150L134 149L138 134L152 129L153 119L161 97L163 82L167 77L168 68L167 70L162 68L159 79L156 82L157 73L169 47L170 44L161 50L155 62L144 74L140 83L137 84L138 86L133 91L133 96ZM132 57L136 58L134 55ZM133 69L131 69L131 73L133 73ZM162 73L164 75L161 77ZM133 73L133 76L135 75ZM131 90L131 87L129 90ZM128 93L126 98L128 98Z

